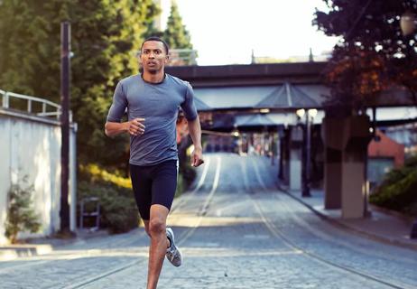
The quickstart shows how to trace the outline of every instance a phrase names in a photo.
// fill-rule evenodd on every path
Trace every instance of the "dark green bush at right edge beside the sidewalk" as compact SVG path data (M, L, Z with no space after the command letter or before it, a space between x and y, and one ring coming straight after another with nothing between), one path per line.
M417 157L409 159L403 168L388 172L369 200L377 206L417 216Z

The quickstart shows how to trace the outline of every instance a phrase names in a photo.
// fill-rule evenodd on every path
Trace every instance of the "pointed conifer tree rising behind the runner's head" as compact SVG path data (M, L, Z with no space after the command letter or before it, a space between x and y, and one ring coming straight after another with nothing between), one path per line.
M166 29L163 32L163 39L173 49L192 49L190 33L182 24L178 5L174 1L171 5L171 14L168 17Z

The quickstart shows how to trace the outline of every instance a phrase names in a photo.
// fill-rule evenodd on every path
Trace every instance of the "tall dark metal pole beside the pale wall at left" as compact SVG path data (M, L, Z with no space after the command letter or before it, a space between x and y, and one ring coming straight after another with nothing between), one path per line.
M60 231L70 233L70 23L60 23Z

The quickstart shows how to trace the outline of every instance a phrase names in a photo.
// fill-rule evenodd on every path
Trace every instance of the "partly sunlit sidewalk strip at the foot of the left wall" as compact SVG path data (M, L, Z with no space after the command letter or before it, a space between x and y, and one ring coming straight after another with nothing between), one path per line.
M86 239L98 238L108 236L107 230L89 231L89 230L77 230L76 238L32 238L25 240L24 244L13 244L0 246L0 262L9 261L18 257L24 256L39 256L49 254L53 251L54 247L65 246L69 244L75 244L77 242L83 242Z

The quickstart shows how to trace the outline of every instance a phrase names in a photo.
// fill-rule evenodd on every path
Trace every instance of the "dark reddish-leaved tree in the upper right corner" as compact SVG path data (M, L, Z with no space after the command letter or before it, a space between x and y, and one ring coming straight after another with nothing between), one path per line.
M400 84L415 100L417 43L403 36L400 19L417 13L415 0L323 0L313 24L329 36L339 36L326 77L332 99L362 107L383 89Z

